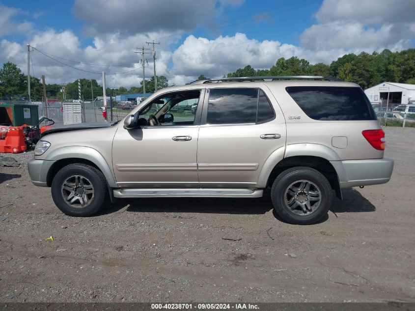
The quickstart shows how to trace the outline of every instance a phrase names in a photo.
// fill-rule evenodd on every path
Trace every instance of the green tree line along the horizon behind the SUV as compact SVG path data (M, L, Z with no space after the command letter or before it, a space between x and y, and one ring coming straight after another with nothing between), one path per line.
M356 54L346 54L330 65L324 63L310 64L304 58L290 57L277 59L275 65L270 69L254 69L251 65L239 68L235 72L230 72L223 77L252 77L252 76L297 76L297 75L317 75L332 76L347 82L359 84L363 89L382 82L397 82L415 84L415 49L408 49L401 52L391 52L384 50L381 53L365 52ZM201 74L198 79L206 79ZM152 93L155 89L154 77L145 80L146 92ZM161 89L168 86L165 76L157 77L157 88ZM60 91L62 85L47 84L46 93L48 98L61 100L63 97ZM40 79L30 77L30 93L32 98L42 98L43 88ZM98 85L97 80L81 79L81 91L84 99L90 99L92 92L94 97L102 96L102 86ZM124 93L142 93L143 81L139 86L119 88L106 88L108 96ZM66 98L78 98L78 80L68 83L65 86ZM27 76L22 73L19 67L12 62L6 62L0 69L0 98L27 98L28 85Z

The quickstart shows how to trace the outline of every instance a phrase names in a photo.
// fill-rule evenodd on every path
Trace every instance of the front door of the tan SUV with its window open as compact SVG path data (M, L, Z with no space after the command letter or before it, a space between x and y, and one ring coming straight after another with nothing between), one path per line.
M196 152L204 94L204 89L164 93L140 110L139 123L146 125L119 126L112 166L120 188L199 187Z

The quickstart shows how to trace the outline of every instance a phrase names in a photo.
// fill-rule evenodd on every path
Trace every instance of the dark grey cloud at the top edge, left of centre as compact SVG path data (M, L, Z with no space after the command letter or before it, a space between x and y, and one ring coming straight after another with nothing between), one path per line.
M76 0L75 15L89 25L89 34L168 30L192 30L212 24L226 6L239 6L243 0Z

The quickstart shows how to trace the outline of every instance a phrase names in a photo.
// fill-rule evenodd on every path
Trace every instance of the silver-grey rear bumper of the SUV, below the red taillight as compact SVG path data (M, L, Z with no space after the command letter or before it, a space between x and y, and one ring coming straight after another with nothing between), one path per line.
M330 163L337 172L340 188L385 184L393 170L393 160L387 158Z

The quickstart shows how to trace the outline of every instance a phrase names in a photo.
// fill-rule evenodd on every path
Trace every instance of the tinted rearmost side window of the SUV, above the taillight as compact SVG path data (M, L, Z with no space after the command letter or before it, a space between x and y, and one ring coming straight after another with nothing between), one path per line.
M285 89L314 120L376 120L360 87L289 86Z

